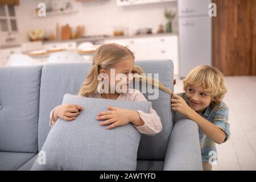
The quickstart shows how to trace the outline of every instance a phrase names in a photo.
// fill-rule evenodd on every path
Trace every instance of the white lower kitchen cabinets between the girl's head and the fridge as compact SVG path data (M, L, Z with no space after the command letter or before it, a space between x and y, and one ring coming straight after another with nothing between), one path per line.
M105 43L117 43L129 48L134 53L135 60L171 59L174 63L174 75L179 75L177 35L106 39Z

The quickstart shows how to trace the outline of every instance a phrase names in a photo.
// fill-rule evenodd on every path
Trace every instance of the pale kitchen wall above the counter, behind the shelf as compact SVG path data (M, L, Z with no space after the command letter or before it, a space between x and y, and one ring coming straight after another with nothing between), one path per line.
M20 5L15 6L18 20L18 42L27 41L28 30L45 28L55 33L56 23L67 24L75 27L80 24L85 26L85 35L108 34L112 35L115 27L128 27L133 33L138 28L151 27L156 32L159 24L166 24L164 8L176 9L177 2L155 3L137 6L117 6L115 0L96 0L77 2L52 0L52 4L60 6L64 2L71 2L73 9L78 12L69 15L52 15L38 17L35 8L38 3L46 0L20 0ZM174 20L173 31L177 32L177 18ZM2 42L2 40L0 40Z

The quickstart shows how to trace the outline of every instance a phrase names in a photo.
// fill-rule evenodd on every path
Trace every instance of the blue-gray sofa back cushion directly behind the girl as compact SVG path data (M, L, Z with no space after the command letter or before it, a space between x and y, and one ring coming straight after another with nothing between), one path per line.
M146 73L159 73L159 80L173 90L171 60L136 61ZM49 130L49 113L60 105L65 93L77 94L92 67L91 63L47 64L42 69L39 102L38 148L42 148ZM144 94L147 98L147 94ZM150 100L162 119L163 130L154 137L142 135L138 159L163 160L172 130L171 95L160 90L157 100Z

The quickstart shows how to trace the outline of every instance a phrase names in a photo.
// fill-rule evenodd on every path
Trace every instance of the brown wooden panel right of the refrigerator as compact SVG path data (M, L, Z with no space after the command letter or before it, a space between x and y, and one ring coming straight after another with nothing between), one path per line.
M256 0L213 2L213 66L226 76L256 75Z

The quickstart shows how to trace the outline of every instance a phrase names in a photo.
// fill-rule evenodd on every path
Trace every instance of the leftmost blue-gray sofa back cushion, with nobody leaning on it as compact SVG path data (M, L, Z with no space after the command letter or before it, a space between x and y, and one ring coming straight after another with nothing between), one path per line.
M0 68L0 151L38 152L41 71L42 66Z

